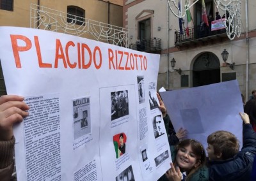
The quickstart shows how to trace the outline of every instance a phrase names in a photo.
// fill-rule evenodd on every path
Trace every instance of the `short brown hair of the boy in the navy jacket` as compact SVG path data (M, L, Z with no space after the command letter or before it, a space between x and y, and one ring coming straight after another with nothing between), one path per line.
M239 141L228 131L216 131L207 138L207 143L214 148L214 154L222 154L221 159L234 157L239 151Z

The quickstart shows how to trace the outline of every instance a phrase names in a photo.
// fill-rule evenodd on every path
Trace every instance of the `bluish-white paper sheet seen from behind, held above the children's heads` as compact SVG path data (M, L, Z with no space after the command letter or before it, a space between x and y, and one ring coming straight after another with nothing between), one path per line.
M243 112L243 103L237 80L160 94L175 131L187 129L188 138L200 141L205 148L209 134L230 131L242 147L243 121L239 112Z

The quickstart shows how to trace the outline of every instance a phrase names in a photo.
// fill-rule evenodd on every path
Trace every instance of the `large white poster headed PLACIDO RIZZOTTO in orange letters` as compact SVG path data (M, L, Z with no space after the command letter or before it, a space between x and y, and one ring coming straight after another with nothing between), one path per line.
M157 180L171 156L156 82L159 55L67 34L0 27L18 180ZM161 129L161 130L159 130Z

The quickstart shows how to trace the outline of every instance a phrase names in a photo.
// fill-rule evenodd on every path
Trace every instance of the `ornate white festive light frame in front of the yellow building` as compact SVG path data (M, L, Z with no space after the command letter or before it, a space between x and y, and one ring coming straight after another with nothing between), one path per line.
M30 7L30 27L75 36L88 34L93 40L121 47L128 47L129 45L128 29L88 18L77 17L36 4L31 4Z

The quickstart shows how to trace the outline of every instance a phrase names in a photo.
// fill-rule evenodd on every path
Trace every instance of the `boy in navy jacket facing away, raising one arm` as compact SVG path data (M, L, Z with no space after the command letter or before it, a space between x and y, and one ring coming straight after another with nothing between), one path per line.
M243 148L239 152L239 141L228 131L216 131L207 138L209 156L209 180L250 180L253 159L256 154L256 133L249 117L243 119Z

